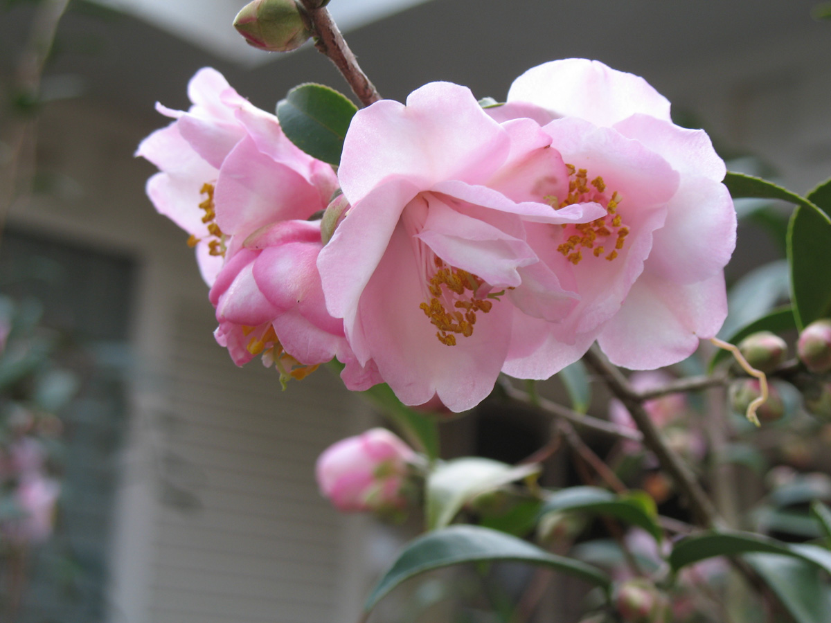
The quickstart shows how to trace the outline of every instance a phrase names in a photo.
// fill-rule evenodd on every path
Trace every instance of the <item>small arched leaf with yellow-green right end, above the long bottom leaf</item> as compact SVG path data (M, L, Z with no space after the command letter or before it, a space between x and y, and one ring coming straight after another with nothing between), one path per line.
M576 511L607 515L633 526L642 527L660 541L661 527L655 521L654 503L650 504L637 492L617 496L611 491L597 487L569 487L553 493L543 504L540 514L555 511Z

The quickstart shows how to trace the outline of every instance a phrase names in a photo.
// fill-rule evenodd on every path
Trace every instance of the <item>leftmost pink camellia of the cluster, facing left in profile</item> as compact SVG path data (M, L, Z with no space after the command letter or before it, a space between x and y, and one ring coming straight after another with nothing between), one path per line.
M175 119L139 145L159 167L147 182L156 209L190 234L199 269L212 285L223 259L258 228L308 218L337 189L332 167L297 149L277 117L250 104L208 67L188 85L186 112L157 104Z

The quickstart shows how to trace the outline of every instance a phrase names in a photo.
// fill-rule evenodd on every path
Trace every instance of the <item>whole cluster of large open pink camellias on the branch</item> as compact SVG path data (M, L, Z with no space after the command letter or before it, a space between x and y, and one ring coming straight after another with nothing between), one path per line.
M598 61L524 73L504 105L433 82L352 119L337 174L217 71L140 145L147 193L190 234L216 340L351 390L477 405L500 372L546 379L597 341L630 369L715 336L735 246L725 164L641 77ZM331 240L309 220L349 204Z

